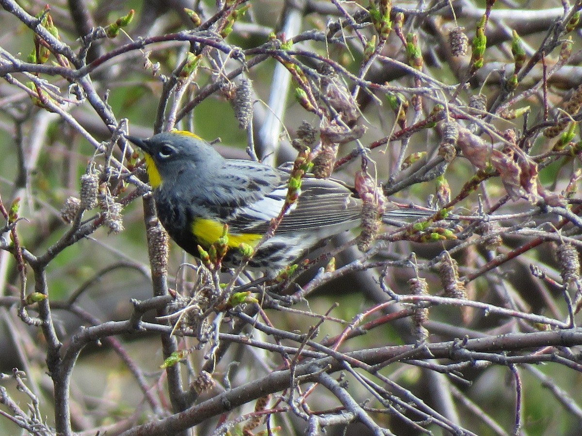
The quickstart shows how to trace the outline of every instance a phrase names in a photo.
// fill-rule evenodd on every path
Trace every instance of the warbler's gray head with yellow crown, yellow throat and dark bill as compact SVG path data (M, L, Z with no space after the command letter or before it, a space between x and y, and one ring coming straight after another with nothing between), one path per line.
M158 133L145 140L125 137L144 151L145 168L154 189L166 181L175 181L184 171L191 175L207 173L209 166L222 159L208 142L187 131ZM197 168L202 165L203 170Z

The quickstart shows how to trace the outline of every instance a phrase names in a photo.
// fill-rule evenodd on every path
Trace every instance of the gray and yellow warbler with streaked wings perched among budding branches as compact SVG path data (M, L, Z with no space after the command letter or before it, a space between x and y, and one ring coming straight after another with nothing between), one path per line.
M145 152L145 166L158 217L170 237L199 257L228 224L229 250L223 265L237 266L240 244L257 245L281 213L290 173L260 162L225 159L208 142L186 131L149 139L126 138ZM395 206L396 207L396 206ZM299 199L273 237L260 245L249 266L276 273L317 242L357 227L362 201L333 179L305 176ZM384 217L426 216L424 211L390 210Z

